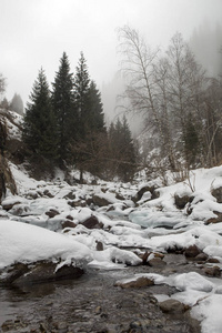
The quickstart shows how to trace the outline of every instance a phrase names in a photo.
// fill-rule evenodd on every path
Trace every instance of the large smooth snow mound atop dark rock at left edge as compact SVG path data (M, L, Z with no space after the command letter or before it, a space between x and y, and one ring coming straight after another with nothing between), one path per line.
M62 234L9 220L0 220L0 269L16 262L61 259L70 262L89 261L85 245Z

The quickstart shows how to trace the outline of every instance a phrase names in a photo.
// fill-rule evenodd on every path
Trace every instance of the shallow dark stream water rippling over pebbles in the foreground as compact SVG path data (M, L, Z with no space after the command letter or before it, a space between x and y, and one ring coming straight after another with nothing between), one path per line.
M162 265L123 270L88 269L75 280L0 289L0 332L201 332L189 306L159 302L178 290L167 284L117 286L137 273L183 273L201 265L182 254L167 254Z

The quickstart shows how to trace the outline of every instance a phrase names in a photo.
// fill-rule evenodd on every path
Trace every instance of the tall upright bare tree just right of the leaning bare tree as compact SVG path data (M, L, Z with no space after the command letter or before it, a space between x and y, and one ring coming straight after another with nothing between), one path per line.
M206 88L205 72L196 62L186 42L175 33L167 51L169 61L168 97L172 113L174 138L181 142L186 167L203 161L199 143L204 135L203 103ZM191 129L192 125L192 129Z

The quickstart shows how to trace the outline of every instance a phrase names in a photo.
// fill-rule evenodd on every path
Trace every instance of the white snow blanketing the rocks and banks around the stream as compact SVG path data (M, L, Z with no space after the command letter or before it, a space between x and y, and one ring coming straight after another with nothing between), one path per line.
M84 262L105 270L122 269L124 264L140 264L141 259L120 248L138 248L138 253L141 248L164 253L194 244L218 259L216 265L222 269L222 222L205 223L222 213L222 203L212 195L213 189L222 186L222 167L195 170L189 181L172 181L171 185L158 189L158 199L150 200L151 193L147 191L137 204L132 200L137 192L158 182L141 180L132 185L99 181L97 185L70 186L59 173L52 183L30 179L24 170L12 164L11 170L19 193L16 196L8 193L0 209L0 269L43 259L57 260L60 266ZM192 196L192 202L179 210L175 194ZM108 204L92 204L93 195ZM49 216L50 211L57 213ZM102 228L85 228L81 222L90 216L95 216ZM67 220L77 226L62 229ZM103 251L97 251L98 242L103 244ZM171 297L193 306L192 314L202 321L202 332L221 332L221 279L195 272L152 274L152 279L157 284L168 283L180 291Z

